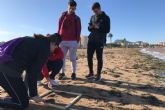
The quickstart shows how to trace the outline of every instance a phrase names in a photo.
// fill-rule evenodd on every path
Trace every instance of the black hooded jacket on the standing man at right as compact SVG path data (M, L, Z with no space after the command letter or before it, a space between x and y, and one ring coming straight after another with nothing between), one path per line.
M89 35L89 42L106 43L107 33L110 32L110 18L104 12L101 15L93 15L91 17L89 25L97 25L99 29L89 29L91 32Z

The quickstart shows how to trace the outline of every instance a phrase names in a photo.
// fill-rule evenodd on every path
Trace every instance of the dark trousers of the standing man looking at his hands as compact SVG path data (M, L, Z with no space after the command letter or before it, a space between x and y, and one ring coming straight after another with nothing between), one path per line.
M87 58L88 58L88 67L89 72L93 73L93 55L96 51L97 57L97 75L101 75L102 67L103 67L103 43L98 42L88 42L87 48Z

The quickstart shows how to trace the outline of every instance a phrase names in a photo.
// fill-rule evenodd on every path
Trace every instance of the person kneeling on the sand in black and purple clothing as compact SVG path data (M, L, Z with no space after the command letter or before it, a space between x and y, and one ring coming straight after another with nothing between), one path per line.
M0 46L0 86L11 97L0 100L1 108L24 110L29 105L29 97L35 102L43 102L37 92L37 76L60 39L58 34L50 37L34 35L34 38L17 38ZM24 70L27 70L29 95L21 78Z

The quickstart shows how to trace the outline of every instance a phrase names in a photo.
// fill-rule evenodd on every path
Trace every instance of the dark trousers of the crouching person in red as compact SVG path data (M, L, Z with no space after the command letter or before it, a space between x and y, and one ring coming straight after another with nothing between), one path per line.
M55 79L55 76L60 72L61 68L63 66L63 60L55 60L55 61L48 61L47 67L50 74L50 79Z

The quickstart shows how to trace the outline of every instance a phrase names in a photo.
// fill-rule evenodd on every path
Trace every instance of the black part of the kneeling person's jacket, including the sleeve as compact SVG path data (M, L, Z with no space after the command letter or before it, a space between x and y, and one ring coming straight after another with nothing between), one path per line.
M28 76L30 97L36 96L37 78L50 55L50 42L45 38L24 37L13 51L12 61L0 65L0 72L9 77L21 77L24 70ZM14 83L14 82L12 82Z

